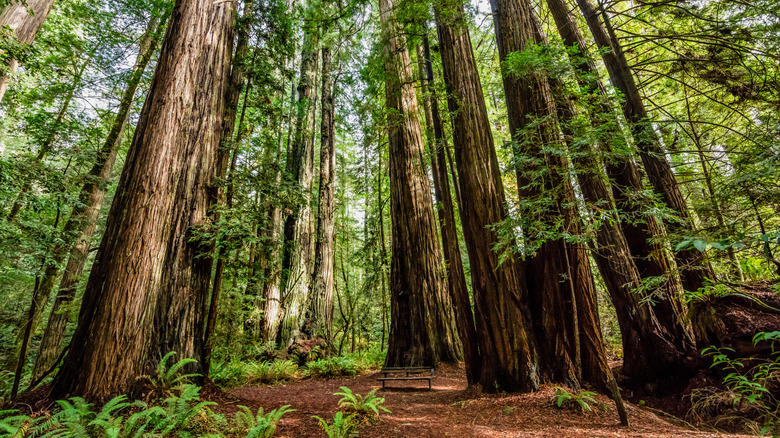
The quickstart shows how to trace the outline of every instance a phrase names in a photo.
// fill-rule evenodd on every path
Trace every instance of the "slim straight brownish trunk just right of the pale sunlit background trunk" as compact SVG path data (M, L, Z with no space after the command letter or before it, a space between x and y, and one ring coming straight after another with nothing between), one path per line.
M314 249L309 335L333 342L333 206L335 195L335 118L330 48L322 48L322 125L320 127L320 193L317 242Z

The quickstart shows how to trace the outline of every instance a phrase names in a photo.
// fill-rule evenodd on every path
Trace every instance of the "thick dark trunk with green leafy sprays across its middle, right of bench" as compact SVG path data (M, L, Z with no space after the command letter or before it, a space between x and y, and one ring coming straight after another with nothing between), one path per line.
M530 2L526 0L492 0L496 41L501 61L509 54L534 44L545 44L541 25ZM566 175L568 164L560 153L545 153L550 147L561 148L555 103L545 76L528 73L520 76L504 72L509 129L516 142L518 193L528 206L521 208L524 235L534 254L526 259L526 279L531 316L538 340L539 370L542 378L579 385L579 336L571 324L576 319L573 297L578 287L591 286L590 279L576 277L574 283L569 248L563 237L548 240L538 235L572 233L579 228L576 213L567 214L574 204L574 194ZM564 217L564 223L559 219ZM579 263L587 259L577 257ZM568 326L567 326L568 325ZM574 325L576 327L576 324Z

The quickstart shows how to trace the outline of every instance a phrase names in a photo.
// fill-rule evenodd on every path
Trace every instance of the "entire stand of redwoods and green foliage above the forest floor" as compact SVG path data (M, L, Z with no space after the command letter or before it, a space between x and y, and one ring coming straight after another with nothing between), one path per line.
M0 401L453 366L780 430L780 3L0 8Z

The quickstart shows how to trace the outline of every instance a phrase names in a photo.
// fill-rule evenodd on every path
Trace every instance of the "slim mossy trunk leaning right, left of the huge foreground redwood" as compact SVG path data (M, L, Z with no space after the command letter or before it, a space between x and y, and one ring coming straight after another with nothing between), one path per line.
M59 291L54 300L49 320L46 323L46 329L43 332L41 345L38 351L38 357L35 360L33 376L40 376L46 372L54 360L59 356L60 345L65 336L65 328L70 318L70 303L76 296L76 287L79 277L84 270L87 261L89 244L92 241L92 235L95 233L100 208L103 205L103 198L106 193L106 184L111 177L111 171L114 168L116 154L119 146L122 144L122 134L130 117L130 109L133 105L135 93L141 82L144 70L149 60L157 50L158 42L170 16L170 10L167 10L159 19L152 18L147 25L146 32L141 37L139 43L138 58L136 59L133 71L127 81L127 86L119 102L119 109L114 116L114 123L111 130L103 142L103 147L97 156L92 169L89 172L87 181L81 187L79 202L73 208L70 218L63 227L63 235L67 239L52 251L52 264L55 269L47 268L46 274L41 281L41 291L43 295L48 295L54 285L56 278L56 266L59 266L67 253L68 262L60 279ZM50 272L51 271L51 272ZM48 290L47 290L48 288ZM39 292L39 293L40 293Z

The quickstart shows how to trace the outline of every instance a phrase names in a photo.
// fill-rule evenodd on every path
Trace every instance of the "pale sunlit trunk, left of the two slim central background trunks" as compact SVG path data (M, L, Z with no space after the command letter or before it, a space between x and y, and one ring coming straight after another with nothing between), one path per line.
M301 191L302 200L285 224L285 259L289 276L284 288L284 314L279 342L287 347L297 336L303 324L311 281L311 187L314 179L314 131L316 113L316 75L319 58L317 29L304 29L301 54L301 79L298 83L298 114L295 139L288 171Z

